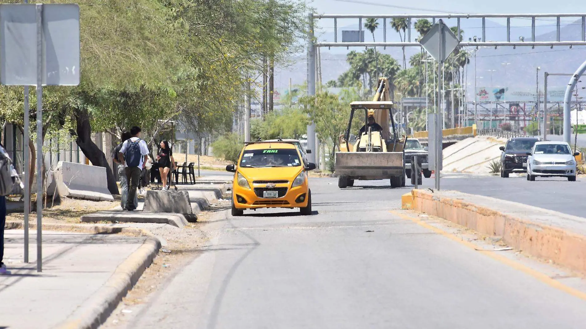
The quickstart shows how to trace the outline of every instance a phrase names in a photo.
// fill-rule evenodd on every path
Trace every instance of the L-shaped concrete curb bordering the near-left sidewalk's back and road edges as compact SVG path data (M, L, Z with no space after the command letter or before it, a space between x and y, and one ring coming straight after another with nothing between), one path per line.
M54 328L94 329L98 328L116 309L122 298L134 287L142 273L151 265L161 249L161 240L145 229L128 227L103 227L80 224L43 224L43 229L55 231L88 232L92 234L129 234L147 237L138 249L122 262L103 286L99 287L66 320ZM7 229L22 229L21 222L6 222ZM30 229L36 225L31 223Z

